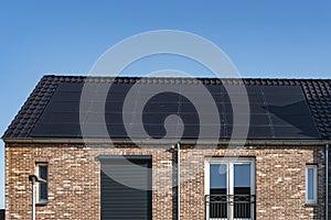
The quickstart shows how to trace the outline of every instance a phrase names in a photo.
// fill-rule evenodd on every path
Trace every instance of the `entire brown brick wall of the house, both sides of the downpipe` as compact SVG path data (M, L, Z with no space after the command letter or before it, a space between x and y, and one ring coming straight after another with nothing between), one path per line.
M136 148L81 144L7 144L6 211L8 219L30 219L31 186L28 176L35 162L49 163L49 204L36 208L38 219L99 219L100 154L152 155L153 220L173 219L172 154L168 145ZM204 219L204 160L224 156L228 150L181 151L181 219ZM241 156L256 161L257 219L324 219L323 147L249 146ZM319 202L305 206L306 164L318 164Z

